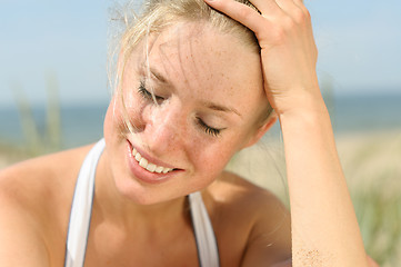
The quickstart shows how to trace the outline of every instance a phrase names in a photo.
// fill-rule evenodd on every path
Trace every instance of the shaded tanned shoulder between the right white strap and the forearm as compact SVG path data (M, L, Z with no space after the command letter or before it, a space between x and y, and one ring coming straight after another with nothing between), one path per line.
M275 195L232 172L208 190L215 220L232 228L231 240L232 233L242 236L241 266L270 266L291 256L290 212Z

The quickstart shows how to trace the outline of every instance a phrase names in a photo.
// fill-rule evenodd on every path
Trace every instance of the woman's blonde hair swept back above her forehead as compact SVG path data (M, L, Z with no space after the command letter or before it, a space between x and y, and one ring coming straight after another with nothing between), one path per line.
M257 10L248 0L237 1ZM120 60L120 63L122 62L122 66L119 70L114 71L116 80L111 82L113 91L116 91L116 88L121 87L118 80L122 79L124 67L132 51L144 41L146 55L148 55L148 38L159 34L168 27L179 22L209 23L221 33L237 36L240 43L249 47L251 51L260 53L259 42L253 31L228 16L210 8L204 0L144 0L143 11L139 16L132 12L129 4L122 8L126 10L118 12L120 16L122 14L120 20L122 20L126 26L119 43L120 59L118 60ZM122 95L123 93L121 93L121 97L123 98ZM122 102L124 102L123 99ZM123 106L126 109L124 103ZM271 111L272 108L270 106L267 107L260 120L265 121ZM129 122L129 120L127 122ZM132 130L129 125L128 128Z

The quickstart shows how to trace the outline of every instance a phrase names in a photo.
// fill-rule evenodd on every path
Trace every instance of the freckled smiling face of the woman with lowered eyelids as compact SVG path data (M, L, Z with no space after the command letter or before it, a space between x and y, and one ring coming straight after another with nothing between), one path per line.
M174 26L150 41L149 66L144 46L138 47L109 107L104 138L119 191L156 204L218 178L252 141L268 100L259 55L232 34L200 23Z

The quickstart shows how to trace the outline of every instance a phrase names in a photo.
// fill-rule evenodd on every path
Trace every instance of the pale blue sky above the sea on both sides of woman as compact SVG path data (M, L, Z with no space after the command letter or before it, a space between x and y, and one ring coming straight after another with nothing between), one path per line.
M318 72L337 95L401 92L401 1L305 0L319 47ZM22 87L46 101L56 73L63 103L104 102L109 0L0 0L0 105Z

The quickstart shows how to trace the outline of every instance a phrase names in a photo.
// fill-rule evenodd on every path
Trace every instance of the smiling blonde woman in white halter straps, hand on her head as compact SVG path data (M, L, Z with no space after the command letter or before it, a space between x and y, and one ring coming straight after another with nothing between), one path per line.
M374 266L302 1L207 3L151 1L129 26L104 140L1 172L1 266ZM291 224L223 170L277 119Z

